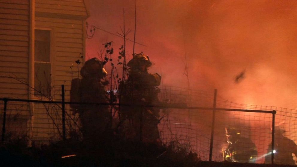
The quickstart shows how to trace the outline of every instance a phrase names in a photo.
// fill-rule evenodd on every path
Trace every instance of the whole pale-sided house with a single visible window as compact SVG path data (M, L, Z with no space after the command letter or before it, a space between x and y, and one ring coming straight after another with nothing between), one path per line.
M88 17L84 0L0 0L0 98L61 101L64 84L69 101ZM60 113L59 106L8 101L6 131L46 141L62 128Z

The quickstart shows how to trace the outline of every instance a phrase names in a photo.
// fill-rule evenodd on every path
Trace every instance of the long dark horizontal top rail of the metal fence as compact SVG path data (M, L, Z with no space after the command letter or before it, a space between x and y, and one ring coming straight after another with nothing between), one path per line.
M158 107L158 108L174 108L174 109L192 109L192 110L216 110L216 111L240 111L252 113L271 113L276 114L275 110L245 110L245 109L231 109L231 108L212 108L212 107L187 107L184 105L165 104L165 105L135 105L135 104L120 104L120 103L81 103L70 101L46 101L46 100L30 100L17 98L0 98L1 101L22 101L34 103L51 103L51 104L88 104L88 105L114 105L114 106L134 106L134 107Z

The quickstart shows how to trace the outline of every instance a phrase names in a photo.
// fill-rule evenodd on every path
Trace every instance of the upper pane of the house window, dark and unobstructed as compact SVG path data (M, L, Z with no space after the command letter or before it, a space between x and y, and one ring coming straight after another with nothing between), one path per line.
M35 30L35 61L50 62L51 32Z

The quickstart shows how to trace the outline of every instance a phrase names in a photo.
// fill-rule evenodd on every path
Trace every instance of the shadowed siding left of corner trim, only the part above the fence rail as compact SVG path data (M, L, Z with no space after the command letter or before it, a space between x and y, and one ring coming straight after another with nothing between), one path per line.
M0 1L0 97L28 99L29 1ZM13 77L15 79L6 78ZM13 83L13 84L9 84Z

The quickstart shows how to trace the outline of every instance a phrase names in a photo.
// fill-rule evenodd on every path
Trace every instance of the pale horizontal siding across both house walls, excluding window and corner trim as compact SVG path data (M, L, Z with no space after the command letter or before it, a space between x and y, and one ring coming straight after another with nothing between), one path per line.
M34 5L35 18L32 25L35 27L33 29L45 28L52 32L51 40L54 44L51 45L53 57L51 77L54 80L51 85L54 87L54 100L61 100L61 84L64 84L65 101L69 101L71 80L77 78L82 64L78 69L76 64L72 69L70 66L81 55L84 55L84 19L88 17L84 1L35 0ZM0 98L29 99L31 97L28 92L29 87L16 80L26 83L34 80L34 66L32 66L33 72L29 74L30 64L32 65L34 61L34 57L29 55L29 40L31 40L29 9L29 0L0 0ZM29 62L29 58L32 62ZM40 98L48 100L44 97ZM24 102L8 102L7 104L7 118L13 118L13 120L19 118L20 120L19 123L9 121L8 129L13 125L21 131L30 129L32 139L43 142L59 136L56 125L62 129L60 109L46 110L47 105L38 103L34 103L33 110L33 107L30 108L28 103ZM3 108L3 101L0 101L0 108ZM67 105L66 111L69 111ZM49 115L57 116L50 117Z

